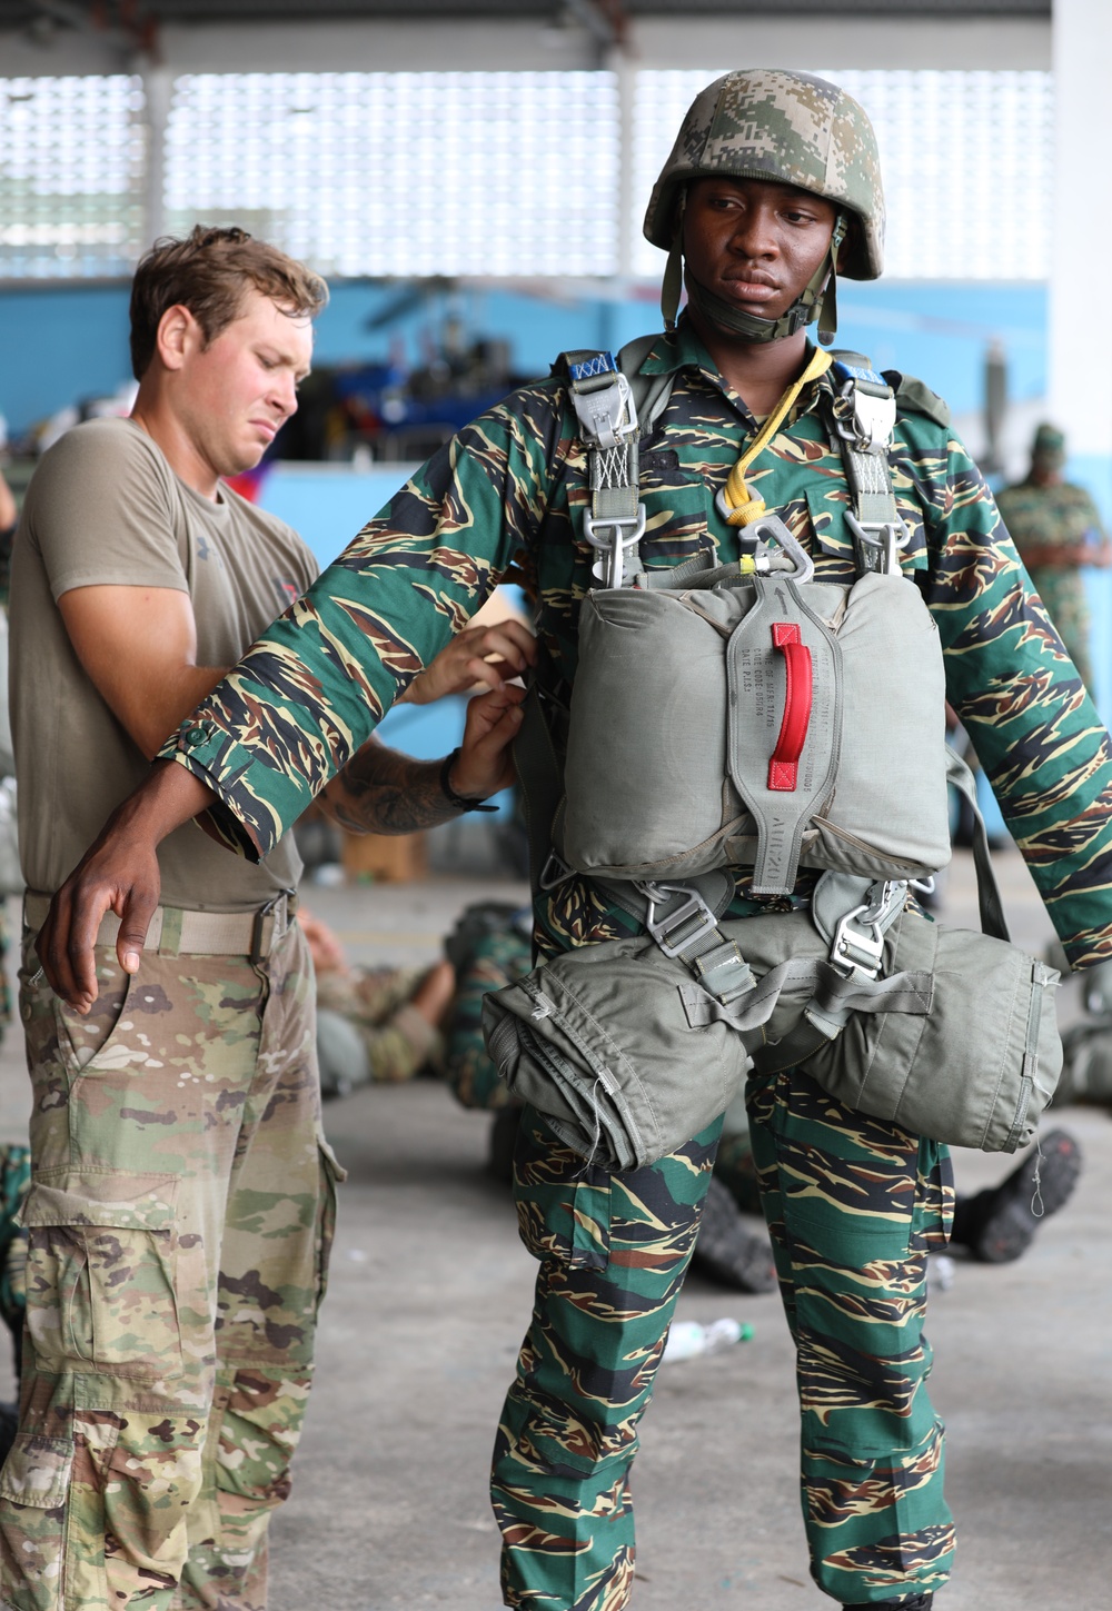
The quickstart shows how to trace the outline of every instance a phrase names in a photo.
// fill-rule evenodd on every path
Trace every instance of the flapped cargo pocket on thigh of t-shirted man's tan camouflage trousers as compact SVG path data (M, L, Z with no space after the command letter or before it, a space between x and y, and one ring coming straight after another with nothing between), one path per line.
M174 1174L44 1171L31 1184L27 1332L40 1369L153 1381L182 1368Z

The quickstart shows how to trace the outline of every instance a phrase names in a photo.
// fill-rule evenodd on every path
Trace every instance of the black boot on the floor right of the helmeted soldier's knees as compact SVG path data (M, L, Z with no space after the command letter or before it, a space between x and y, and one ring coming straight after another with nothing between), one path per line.
M1048 1131L1006 1181L957 1203L952 1240L985 1265L1010 1263L1070 1199L1080 1173L1081 1149L1073 1137Z

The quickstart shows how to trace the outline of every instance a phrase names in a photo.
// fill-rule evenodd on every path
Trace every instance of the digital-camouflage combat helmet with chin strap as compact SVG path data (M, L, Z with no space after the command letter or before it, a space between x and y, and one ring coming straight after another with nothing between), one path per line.
M688 277L688 295L717 324L748 340L791 335L824 313L820 333L833 337L833 255L857 280L875 280L883 264L885 198L877 137L853 97L806 72L741 69L716 79L691 103L672 155L656 180L645 234L670 253L664 277L664 317L675 322L680 298L682 211L687 185L714 176L770 179L798 185L838 208L830 253L799 300L780 319L743 313ZM849 219L856 227L849 227ZM824 309L825 303L825 309Z

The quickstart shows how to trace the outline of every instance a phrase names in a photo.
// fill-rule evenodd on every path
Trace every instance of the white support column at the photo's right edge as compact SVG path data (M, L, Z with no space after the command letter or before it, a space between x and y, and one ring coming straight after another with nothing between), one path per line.
M1049 417L1065 432L1067 478L1093 493L1112 530L1112 6L1054 0L1054 237ZM1112 574L1089 572L1093 667L1112 717Z

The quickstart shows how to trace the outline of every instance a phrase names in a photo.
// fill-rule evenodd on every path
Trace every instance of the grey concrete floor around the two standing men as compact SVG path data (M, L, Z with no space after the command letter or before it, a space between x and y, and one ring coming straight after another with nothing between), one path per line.
M1015 854L999 859L1015 938L1049 936ZM972 923L969 862L946 921ZM521 884L440 876L411 888L306 889L361 960L432 960L467 901ZM1062 992L1067 1017L1077 988ZM11 1039L3 1131L26 1099ZM434 1083L356 1092L326 1110L350 1171L324 1308L319 1377L276 1519L272 1611L493 1611L498 1539L487 1461L529 1319L533 1263L503 1189L483 1173L487 1118ZM1081 1139L1075 1199L1017 1265L957 1265L932 1300L933 1395L949 1424L961 1530L940 1611L1106 1611L1112 1600L1112 1123L1056 1115ZM965 1189L1009 1162L956 1155ZM691 1278L680 1316L756 1329L725 1353L662 1368L643 1424L635 1611L807 1611L796 1487L791 1350L778 1300ZM3 1382L0 1382L3 1394Z

